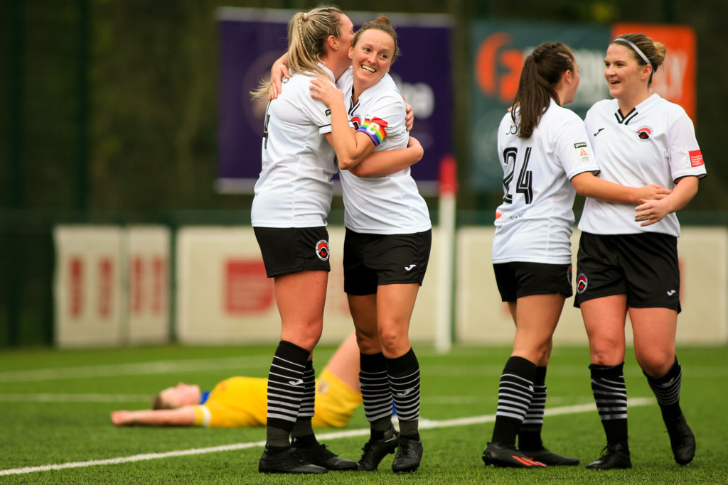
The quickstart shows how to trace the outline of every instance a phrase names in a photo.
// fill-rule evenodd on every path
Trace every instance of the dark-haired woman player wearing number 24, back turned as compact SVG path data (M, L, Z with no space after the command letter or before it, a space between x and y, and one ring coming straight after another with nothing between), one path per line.
M513 353L498 390L496 422L483 450L486 465L542 468L576 465L542 444L546 368L563 302L571 289L575 194L638 203L668 192L630 188L595 177L584 123L563 108L574 100L579 67L560 42L526 57L513 107L498 130L503 203L496 211L493 268L515 322ZM515 440L518 436L518 449Z

